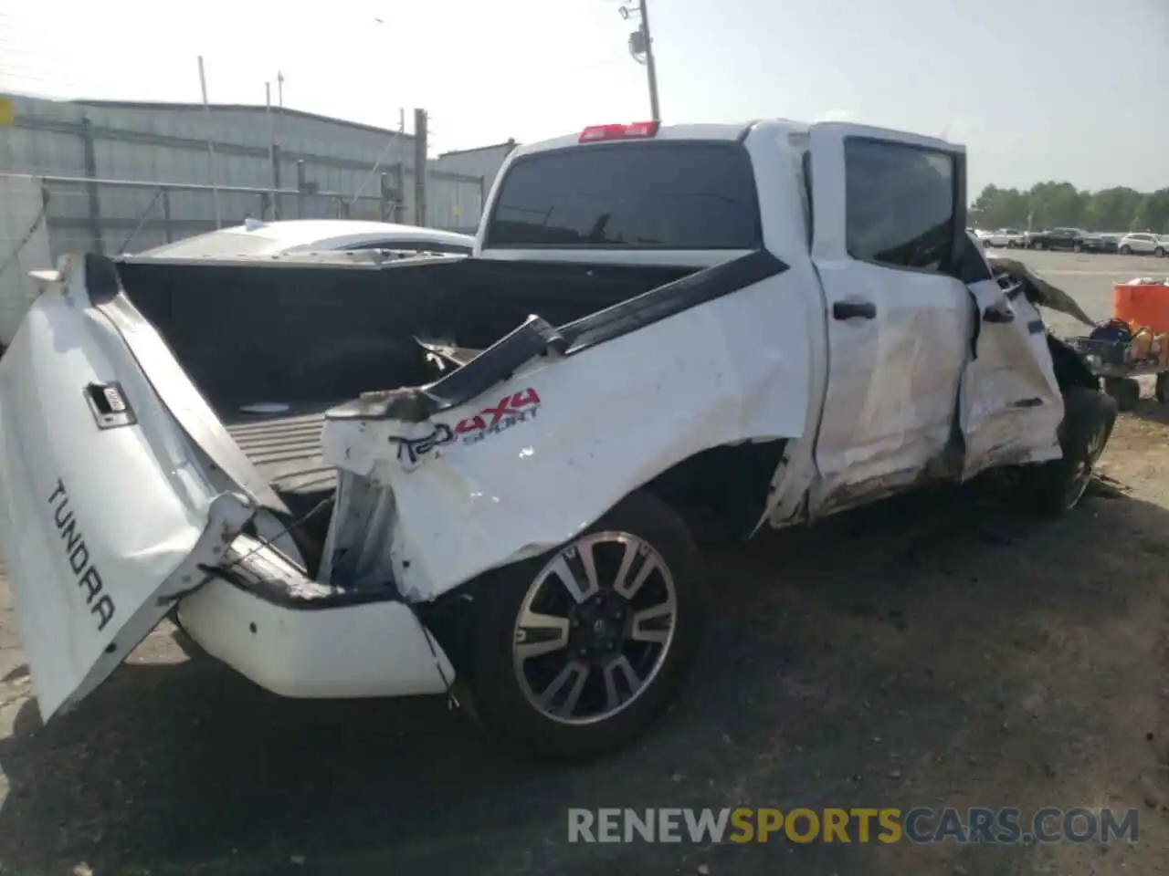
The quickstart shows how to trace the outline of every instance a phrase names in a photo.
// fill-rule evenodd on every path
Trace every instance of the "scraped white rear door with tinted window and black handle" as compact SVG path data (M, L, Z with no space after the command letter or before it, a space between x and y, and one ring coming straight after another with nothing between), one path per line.
M826 513L953 471L974 308L957 277L961 147L823 124L811 154L830 357L812 512Z

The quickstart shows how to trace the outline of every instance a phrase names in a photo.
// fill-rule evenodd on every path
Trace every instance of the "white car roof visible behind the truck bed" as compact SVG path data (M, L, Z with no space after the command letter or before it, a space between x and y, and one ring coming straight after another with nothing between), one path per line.
M361 220L284 220L260 222L187 237L138 255L151 258L229 258L288 252L416 250L466 256L475 238L455 231Z

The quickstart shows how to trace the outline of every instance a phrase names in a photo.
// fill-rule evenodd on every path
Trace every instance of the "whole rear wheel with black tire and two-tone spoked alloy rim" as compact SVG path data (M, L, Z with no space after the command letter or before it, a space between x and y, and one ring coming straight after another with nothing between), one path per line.
M627 496L554 551L484 576L470 687L479 719L540 757L581 760L645 730L680 689L706 617L689 530Z

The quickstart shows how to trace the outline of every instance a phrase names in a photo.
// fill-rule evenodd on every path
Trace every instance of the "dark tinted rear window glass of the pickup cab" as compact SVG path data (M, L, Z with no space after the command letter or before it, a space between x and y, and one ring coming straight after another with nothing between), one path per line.
M742 250L760 236L741 144L623 142L517 159L486 245Z

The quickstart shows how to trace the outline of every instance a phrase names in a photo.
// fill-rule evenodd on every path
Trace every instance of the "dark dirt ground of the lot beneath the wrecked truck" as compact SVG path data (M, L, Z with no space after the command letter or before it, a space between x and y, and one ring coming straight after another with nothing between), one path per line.
M0 589L0 872L1169 872L1169 412L1123 417L1102 474L1058 523L966 489L715 556L684 701L587 769L441 702L281 701L166 631L42 728ZM735 805L1142 820L1109 847L566 842L570 806Z

